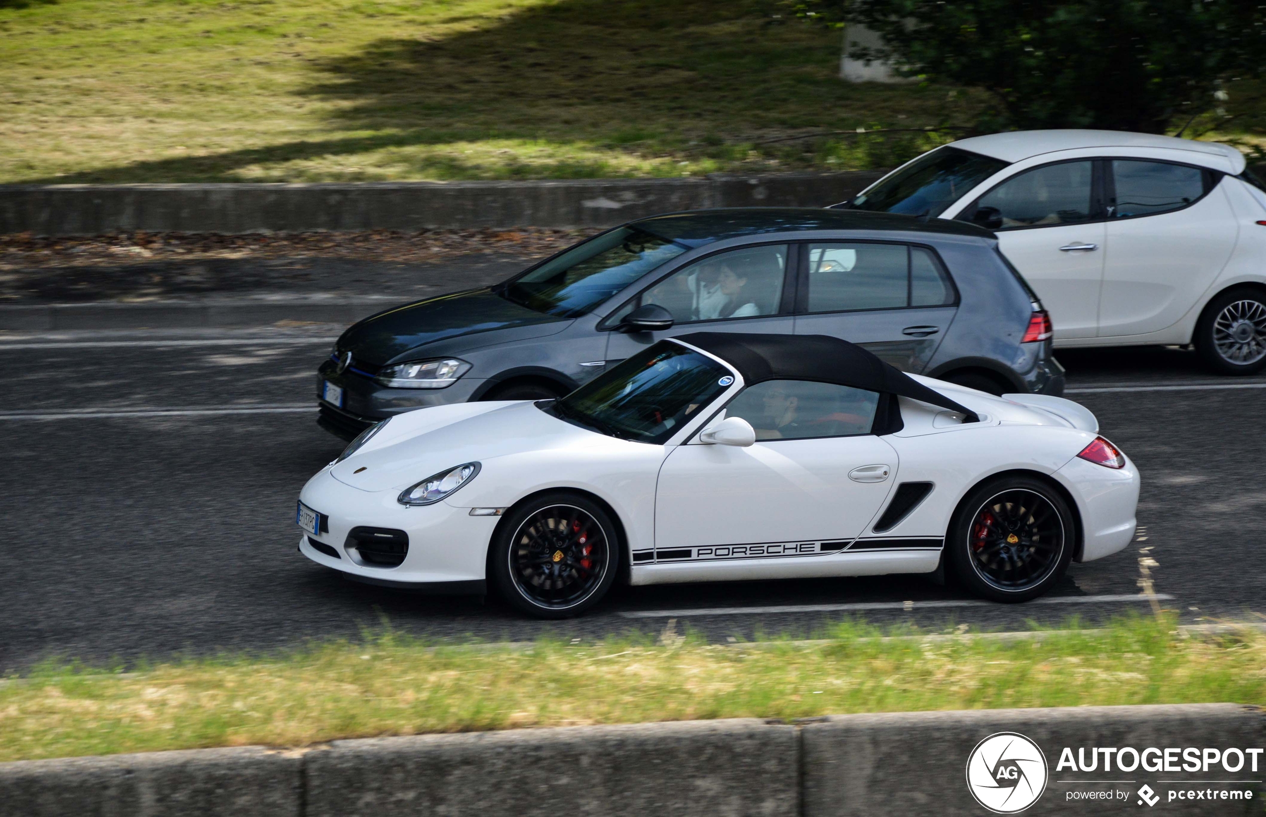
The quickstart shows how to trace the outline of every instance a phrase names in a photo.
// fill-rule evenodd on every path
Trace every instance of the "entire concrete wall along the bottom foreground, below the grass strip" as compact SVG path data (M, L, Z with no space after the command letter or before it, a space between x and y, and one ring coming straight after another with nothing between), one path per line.
M1069 792L1113 787L1129 801L1118 796L1110 813L1133 809L1144 784L1167 814L1261 812L1243 801L1169 801L1170 790L1208 775L1117 771L1109 777L1131 779L1095 783L1103 771L1056 768L1065 747L1074 755L1179 747L1181 764L1181 747L1266 741L1260 708L1208 703L685 721L28 760L0 764L0 817L966 816L982 813L966 785L967 758L1003 731L1032 739L1047 758L1044 793L1025 814L1084 813L1087 804L1070 804ZM1231 777L1261 780L1266 758L1256 758L1256 771L1246 765ZM1238 788L1260 799L1260 784ZM1101 802L1089 806L1109 813Z

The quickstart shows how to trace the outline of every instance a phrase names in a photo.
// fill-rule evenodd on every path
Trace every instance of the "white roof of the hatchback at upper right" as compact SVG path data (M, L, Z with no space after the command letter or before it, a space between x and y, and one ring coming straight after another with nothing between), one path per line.
M1184 150L1185 158L1193 164L1201 164L1219 171L1227 169L1239 175L1244 169L1244 154L1229 144L1215 142L1195 142L1194 139L1175 139L1150 133L1127 133L1124 130L1013 130L994 133L987 137L971 137L955 142L956 148L991 156L1004 162L1020 162L1046 153L1058 150L1082 150L1087 148L1152 148L1165 150Z

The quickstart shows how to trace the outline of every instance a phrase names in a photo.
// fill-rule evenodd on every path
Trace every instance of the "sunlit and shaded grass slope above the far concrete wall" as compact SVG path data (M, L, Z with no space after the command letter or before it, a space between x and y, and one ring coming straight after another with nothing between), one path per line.
M936 138L800 137L970 121L971 94L842 82L839 33L787 11L780 0L0 0L0 182L847 169Z

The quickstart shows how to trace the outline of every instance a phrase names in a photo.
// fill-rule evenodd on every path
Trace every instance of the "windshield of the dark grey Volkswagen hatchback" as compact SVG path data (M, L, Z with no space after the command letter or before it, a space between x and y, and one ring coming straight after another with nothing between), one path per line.
M576 317L686 249L666 238L622 226L551 258L500 287L499 293L546 315Z

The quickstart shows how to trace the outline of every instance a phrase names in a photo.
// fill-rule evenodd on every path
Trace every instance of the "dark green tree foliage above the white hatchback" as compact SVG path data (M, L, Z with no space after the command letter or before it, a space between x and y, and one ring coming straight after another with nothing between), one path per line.
M801 16L862 24L931 82L985 89L977 126L1165 133L1219 108L1266 66L1266 5L1243 0L796 0Z

